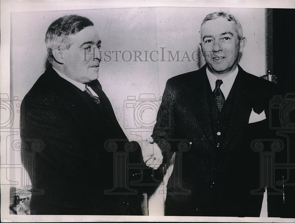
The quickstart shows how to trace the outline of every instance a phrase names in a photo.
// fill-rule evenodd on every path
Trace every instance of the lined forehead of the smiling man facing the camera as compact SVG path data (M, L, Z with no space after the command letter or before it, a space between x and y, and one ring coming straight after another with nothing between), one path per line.
M233 35L237 35L236 23L234 21L227 21L223 17L209 20L201 27L202 37L205 35L221 35L224 32L232 32Z

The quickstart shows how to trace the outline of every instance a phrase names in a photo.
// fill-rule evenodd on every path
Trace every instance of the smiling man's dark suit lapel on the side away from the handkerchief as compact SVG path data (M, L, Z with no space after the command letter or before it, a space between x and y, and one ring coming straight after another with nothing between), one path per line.
M192 76L191 79L183 84L183 91L187 96L188 101L191 101L191 109L194 112L201 129L204 131L212 146L215 147L207 99L207 86L209 80L206 74L206 66L195 71L194 74L195 75Z

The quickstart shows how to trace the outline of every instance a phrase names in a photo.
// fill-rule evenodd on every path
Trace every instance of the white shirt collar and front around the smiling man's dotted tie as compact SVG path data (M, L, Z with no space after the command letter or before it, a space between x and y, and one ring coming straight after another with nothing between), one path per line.
M209 79L209 82L210 82L210 86L211 86L211 89L212 89L212 92L214 91L215 89L215 86L216 86L216 81L219 79L219 80L222 80L222 85L220 85L220 90L222 91L223 95L224 95L224 98L225 100L227 99L227 96L228 94L230 94L230 89L232 89L232 85L235 81L235 78L238 74L238 67L232 72L230 73L229 75L227 75L226 77L224 78L218 78L217 76L215 76L214 74L212 74L208 68L206 68L206 73L207 73L207 77Z

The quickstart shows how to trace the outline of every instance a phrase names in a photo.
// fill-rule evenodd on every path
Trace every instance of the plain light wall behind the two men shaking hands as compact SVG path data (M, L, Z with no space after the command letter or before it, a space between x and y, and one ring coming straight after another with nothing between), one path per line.
M256 76L265 75L265 9L150 7L22 12L11 14L11 96L22 100L44 72L44 40L48 26L63 15L85 16L99 31L101 50L140 50L143 55L144 50L148 50L148 55L153 50L159 51L158 62L135 62L134 55L130 62L123 61L121 57L116 62L113 57L110 62L102 60L99 70L99 81L123 131L130 140L144 140L151 134L152 125L136 126L134 115L137 114L134 114L134 109L124 108L124 103L137 101L140 94L152 94L159 100L168 78L198 69L200 63L195 61L160 61L160 47L165 47L165 60L168 60L167 50L173 54L179 50L180 60L185 51L191 55L199 49L202 20L207 14L221 10L232 13L240 21L247 38L240 61L242 68ZM156 54L153 55L156 59ZM126 53L125 57L128 59L129 54ZM135 100L134 97L128 99L128 96L135 96ZM150 107L142 112L142 121L152 123L156 113L157 107ZM18 115L16 113L14 127L19 125ZM19 135L14 138L17 137ZM10 150L10 163L20 163L18 152ZM15 178L18 177L16 173Z

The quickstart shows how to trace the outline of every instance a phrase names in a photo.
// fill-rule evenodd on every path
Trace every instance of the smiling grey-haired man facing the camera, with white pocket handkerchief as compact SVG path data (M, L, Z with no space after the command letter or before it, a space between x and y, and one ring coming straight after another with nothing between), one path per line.
M250 142L265 137L276 86L238 65L246 38L234 16L209 14L200 33L206 65L167 81L171 111L161 113L161 105L152 135L163 160L178 158L165 215L259 217L263 192L251 191L260 188L260 157Z

